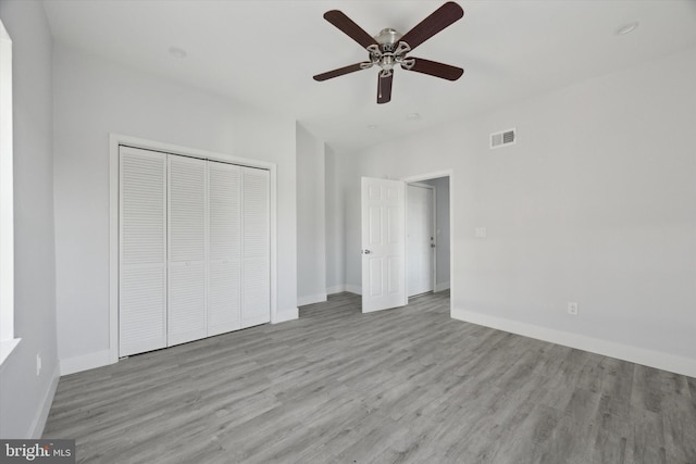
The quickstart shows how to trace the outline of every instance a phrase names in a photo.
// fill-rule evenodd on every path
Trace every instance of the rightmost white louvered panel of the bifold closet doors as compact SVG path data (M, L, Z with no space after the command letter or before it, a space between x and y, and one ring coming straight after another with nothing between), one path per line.
M241 328L271 321L270 173L241 168Z

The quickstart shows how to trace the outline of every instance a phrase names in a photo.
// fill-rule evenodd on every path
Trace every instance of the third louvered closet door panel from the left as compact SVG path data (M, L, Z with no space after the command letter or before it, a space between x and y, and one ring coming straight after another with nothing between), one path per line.
M208 162L208 336L241 327L241 167Z

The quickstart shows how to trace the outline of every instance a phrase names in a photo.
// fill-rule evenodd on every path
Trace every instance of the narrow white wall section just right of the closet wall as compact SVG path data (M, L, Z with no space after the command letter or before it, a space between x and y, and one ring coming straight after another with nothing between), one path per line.
M297 301L326 301L324 142L297 124Z

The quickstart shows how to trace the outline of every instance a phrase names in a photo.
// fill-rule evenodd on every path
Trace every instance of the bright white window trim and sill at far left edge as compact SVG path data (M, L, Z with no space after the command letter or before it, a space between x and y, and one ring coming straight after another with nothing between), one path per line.
M12 39L0 21L0 365L14 338L14 179Z

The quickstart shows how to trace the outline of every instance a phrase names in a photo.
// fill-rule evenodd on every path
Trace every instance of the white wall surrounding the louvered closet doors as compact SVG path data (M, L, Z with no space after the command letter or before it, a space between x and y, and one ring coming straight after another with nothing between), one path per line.
M108 362L109 134L277 164L277 312L297 316L295 122L55 43L58 342L69 372Z

